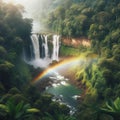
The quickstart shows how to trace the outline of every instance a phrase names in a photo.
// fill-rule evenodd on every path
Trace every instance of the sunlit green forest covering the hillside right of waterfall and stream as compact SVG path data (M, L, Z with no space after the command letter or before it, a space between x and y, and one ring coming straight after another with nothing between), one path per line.
M48 27L64 37L89 38L90 51L98 55L95 62L91 61L82 66L82 69L76 70L76 80L86 85L86 95L77 113L78 119L120 118L118 104L105 105L110 99L116 101L120 96L119 13L119 0L67 0L49 14ZM64 46L62 49L65 49ZM67 47L66 49L71 50ZM72 54L77 54L73 51ZM67 50L64 55L66 54ZM108 109L100 109L105 106ZM117 115L111 113L112 108L117 111Z

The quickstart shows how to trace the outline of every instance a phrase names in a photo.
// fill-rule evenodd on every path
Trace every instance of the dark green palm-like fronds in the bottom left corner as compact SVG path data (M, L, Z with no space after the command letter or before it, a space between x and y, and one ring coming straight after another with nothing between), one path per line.
M33 114L40 112L36 108L31 108L30 104L25 104L23 101L15 104L13 99L7 101L6 104L0 104L0 116L10 118L11 120L21 120L30 118Z

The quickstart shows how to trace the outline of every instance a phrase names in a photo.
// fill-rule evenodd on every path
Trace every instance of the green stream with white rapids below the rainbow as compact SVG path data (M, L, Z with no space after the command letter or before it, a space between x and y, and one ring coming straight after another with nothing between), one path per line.
M77 109L77 98L80 97L81 90L70 84L69 79L58 73L55 73L54 76L49 76L49 78L51 79L50 85L46 86L45 92L54 95L53 101L66 104L71 110L70 114L73 114Z

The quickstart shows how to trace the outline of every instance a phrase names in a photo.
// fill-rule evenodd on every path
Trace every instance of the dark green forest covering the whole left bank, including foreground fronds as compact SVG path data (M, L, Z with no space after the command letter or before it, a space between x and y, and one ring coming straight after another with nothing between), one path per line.
M22 52L29 53L32 21L22 17L23 10L0 0L0 120L74 120L68 107L31 85L35 71Z

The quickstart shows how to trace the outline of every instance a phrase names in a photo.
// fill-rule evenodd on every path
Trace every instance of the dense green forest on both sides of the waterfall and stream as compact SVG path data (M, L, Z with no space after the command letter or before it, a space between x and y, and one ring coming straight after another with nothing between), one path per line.
M74 115L31 84L34 69L21 56L29 48L32 20L22 12L21 5L0 0L0 119L120 120L120 1L65 0L43 20L62 37L90 39L84 52L98 56L75 71L85 92Z

